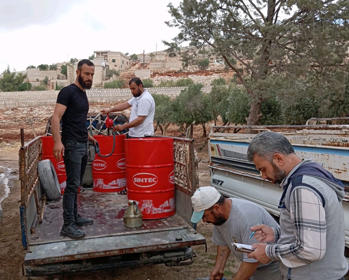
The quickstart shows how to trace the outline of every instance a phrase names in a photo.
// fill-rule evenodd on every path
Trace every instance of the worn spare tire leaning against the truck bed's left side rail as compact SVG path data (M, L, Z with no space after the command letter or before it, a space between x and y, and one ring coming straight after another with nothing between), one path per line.
M52 161L49 159L40 160L38 162L38 173L47 200L60 198L61 188Z

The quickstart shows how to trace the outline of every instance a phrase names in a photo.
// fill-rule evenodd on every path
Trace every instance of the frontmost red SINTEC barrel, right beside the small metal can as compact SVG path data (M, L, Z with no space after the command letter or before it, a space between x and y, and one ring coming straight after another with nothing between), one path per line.
M125 156L127 198L138 201L143 219L174 215L173 139L126 139Z

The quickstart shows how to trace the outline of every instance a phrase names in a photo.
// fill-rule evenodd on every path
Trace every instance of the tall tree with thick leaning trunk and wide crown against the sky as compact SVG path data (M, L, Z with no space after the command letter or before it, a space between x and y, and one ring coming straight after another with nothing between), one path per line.
M248 125L259 122L262 103L275 92L290 102L296 93L316 93L320 100L344 93L347 0L183 0L168 7L172 20L166 23L180 33L164 42L167 51L189 42L182 57L196 59L210 46L248 93ZM296 90L299 82L304 92Z

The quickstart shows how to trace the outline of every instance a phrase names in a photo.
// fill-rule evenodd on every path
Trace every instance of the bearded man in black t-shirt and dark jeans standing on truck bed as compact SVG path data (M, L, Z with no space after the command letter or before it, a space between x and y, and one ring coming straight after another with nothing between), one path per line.
M90 60L83 59L77 64L76 80L58 93L51 120L53 155L57 161L63 156L67 174L62 201L64 224L60 235L70 238L84 237L85 233L77 226L93 223L91 218L83 218L77 213L77 190L87 165L88 141L95 142L86 127L89 103L85 91L91 88L94 74L95 65ZM62 138L59 131L61 119Z

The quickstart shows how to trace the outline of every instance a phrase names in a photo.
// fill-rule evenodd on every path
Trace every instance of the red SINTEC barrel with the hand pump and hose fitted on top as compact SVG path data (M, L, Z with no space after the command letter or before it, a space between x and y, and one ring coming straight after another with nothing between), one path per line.
M105 135L93 136L98 144L101 155L109 155L113 149L113 137ZM96 158L92 162L93 190L98 193L115 193L126 188L126 166L124 140L126 135L115 136L114 152L109 157Z

